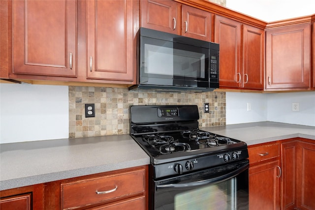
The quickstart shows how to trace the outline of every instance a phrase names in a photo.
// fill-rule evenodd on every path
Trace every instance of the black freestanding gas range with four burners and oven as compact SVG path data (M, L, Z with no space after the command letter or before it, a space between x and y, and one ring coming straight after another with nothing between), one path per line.
M151 159L149 209L248 209L246 143L199 130L198 120L196 105L130 107L130 136Z

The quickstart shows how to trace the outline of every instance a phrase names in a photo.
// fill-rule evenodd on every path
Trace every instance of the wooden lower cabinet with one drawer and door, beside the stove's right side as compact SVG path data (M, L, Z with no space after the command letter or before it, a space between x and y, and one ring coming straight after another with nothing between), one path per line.
M280 145L249 147L249 209L280 210Z

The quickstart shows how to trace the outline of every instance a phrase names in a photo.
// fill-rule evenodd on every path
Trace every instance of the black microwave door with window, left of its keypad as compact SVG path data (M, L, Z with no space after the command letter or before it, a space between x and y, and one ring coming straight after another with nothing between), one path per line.
M208 86L209 49L148 37L141 41L140 84Z

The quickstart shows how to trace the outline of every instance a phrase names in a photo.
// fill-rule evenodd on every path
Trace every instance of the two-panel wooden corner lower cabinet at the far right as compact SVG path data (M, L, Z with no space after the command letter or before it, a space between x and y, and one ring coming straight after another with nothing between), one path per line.
M281 148L282 210L315 210L315 143L285 140Z

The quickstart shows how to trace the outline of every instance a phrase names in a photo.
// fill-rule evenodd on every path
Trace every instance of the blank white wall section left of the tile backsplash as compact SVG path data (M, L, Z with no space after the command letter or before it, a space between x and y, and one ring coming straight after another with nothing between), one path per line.
M0 84L0 143L69 136L67 86Z

